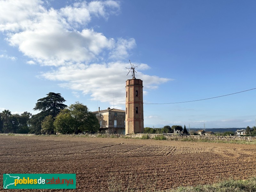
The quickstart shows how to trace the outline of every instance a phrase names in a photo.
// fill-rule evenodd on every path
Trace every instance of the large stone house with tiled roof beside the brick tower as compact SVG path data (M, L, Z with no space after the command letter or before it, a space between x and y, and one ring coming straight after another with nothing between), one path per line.
M108 108L92 112L100 123L100 132L110 134L125 134L125 111Z

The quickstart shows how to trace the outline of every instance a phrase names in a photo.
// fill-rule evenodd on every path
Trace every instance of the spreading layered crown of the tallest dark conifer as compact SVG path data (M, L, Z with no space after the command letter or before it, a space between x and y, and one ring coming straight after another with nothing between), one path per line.
M60 109L68 107L63 104L66 100L61 97L60 93L49 92L47 97L37 100L35 108L33 110L40 110L45 114L56 117L60 113Z

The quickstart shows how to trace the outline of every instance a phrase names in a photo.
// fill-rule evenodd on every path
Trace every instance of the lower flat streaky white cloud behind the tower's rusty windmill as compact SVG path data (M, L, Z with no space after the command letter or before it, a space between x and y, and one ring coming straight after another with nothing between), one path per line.
M101 102L113 104L114 93L115 105L124 105L125 81L129 78L126 76L128 71L125 68L126 66L127 63L122 62L91 65L76 64L62 66L55 71L44 73L42 76L49 80L63 81L65 83L61 83L61 87L81 91L83 94L90 94L92 100L99 99ZM143 77L141 79L143 79L145 89L152 87L148 84L160 84L170 80L153 76L154 81L151 81L149 78L152 76L139 74Z

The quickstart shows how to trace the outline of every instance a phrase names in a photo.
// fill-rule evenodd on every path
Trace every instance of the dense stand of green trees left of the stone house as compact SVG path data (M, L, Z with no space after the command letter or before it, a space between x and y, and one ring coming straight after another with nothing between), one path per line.
M1 133L35 133L35 134L78 134L97 132L100 128L97 117L86 105L76 102L67 106L60 93L49 92L37 100L36 115L24 112L21 115L11 114L4 110L0 113Z

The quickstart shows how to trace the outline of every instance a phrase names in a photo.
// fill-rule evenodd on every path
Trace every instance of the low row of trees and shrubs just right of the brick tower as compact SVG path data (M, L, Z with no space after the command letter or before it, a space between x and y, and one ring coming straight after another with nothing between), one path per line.
M184 128L181 125L165 125L164 128L150 128L145 127L143 129L143 133L183 133L188 134L188 130L186 128L186 125L184 125Z

